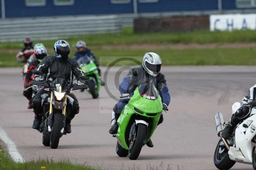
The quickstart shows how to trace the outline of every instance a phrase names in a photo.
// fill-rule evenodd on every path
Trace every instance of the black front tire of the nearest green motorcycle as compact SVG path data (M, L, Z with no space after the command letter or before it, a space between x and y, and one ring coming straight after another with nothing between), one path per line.
M129 147L129 159L131 160L136 160L139 157L146 136L147 125L138 123L137 127L133 146Z

